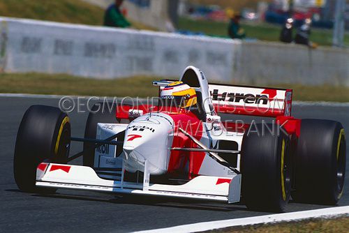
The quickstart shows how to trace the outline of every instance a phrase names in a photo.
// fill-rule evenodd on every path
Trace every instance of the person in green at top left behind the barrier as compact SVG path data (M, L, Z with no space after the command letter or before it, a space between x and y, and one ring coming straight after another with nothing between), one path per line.
M131 27L130 22L126 20L121 13L120 7L124 0L115 0L105 11L104 26L107 27Z

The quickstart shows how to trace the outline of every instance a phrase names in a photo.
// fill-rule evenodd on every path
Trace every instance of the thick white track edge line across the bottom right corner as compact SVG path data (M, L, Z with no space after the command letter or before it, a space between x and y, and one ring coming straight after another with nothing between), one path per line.
M234 214L234 213L232 213ZM336 216L349 216L349 206L340 206L326 209L315 209L311 211L299 211L291 213L279 213L266 216L256 216L250 218L236 218L230 220L220 220L205 223L194 223L180 225L177 227L168 227L156 230L142 231L143 233L160 233L160 232L204 232L209 230L221 229L225 227L239 227L246 225L282 223L290 221L306 220L311 218L334 218Z

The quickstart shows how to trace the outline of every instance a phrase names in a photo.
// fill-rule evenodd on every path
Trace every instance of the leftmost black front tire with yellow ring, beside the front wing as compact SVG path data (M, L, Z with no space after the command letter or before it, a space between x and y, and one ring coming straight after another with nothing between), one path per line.
M68 161L70 119L57 107L33 105L25 112L17 133L13 171L18 188L28 193L54 193L36 187L36 169L42 162Z

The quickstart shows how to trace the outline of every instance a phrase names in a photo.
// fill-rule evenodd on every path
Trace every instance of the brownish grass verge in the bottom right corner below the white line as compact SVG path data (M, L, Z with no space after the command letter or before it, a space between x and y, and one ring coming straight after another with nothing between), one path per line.
M307 220L298 223L281 223L275 225L257 225L250 227L239 227L232 229L219 230L219 232L253 232L253 233L269 233L269 232L348 232L349 218L336 218L330 220ZM213 231L216 232L216 231Z

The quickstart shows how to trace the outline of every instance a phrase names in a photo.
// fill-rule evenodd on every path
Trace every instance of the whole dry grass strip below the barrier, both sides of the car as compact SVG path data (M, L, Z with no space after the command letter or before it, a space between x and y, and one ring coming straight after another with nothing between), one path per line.
M71 75L39 73L0 74L0 93L34 93L74 96L158 96L151 82L161 77L129 77L96 80ZM294 90L294 100L349 102L349 87L304 86L298 84L267 85Z

